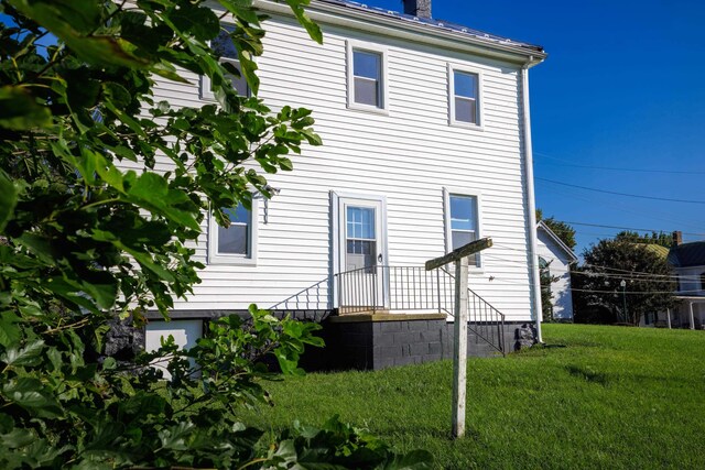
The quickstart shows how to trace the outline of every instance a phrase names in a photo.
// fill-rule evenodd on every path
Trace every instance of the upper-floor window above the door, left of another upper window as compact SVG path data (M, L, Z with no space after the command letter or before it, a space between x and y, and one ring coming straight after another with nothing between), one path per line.
M386 112L387 52L373 44L348 41L348 107Z

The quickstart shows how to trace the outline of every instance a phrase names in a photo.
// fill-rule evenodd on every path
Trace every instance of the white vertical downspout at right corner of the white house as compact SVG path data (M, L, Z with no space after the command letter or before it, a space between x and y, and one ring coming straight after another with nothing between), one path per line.
M541 334L541 277L539 276L539 254L536 248L536 201L533 188L533 151L531 147L531 111L529 107L529 66L533 56L521 67L521 97L524 125L524 164L527 175L527 203L529 206L529 267L531 272L532 304L536 321L536 341L543 343Z

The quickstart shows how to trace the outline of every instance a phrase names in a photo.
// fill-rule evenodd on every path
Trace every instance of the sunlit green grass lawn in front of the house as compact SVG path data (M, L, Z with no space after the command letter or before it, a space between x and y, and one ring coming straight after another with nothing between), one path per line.
M437 468L705 468L705 331L545 325L547 347L468 362L468 435L449 439L452 362L267 384L261 428L344 422Z

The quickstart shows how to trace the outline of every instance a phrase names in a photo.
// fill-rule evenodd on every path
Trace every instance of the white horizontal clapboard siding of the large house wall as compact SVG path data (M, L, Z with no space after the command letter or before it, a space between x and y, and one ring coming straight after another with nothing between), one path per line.
M415 266L445 252L443 188L481 196L484 237L495 247L470 269L470 287L508 320L530 318L527 200L519 66L325 24L324 45L291 19L267 21L257 58L259 97L273 110L314 110L324 146L292 155L293 172L267 175L281 194L260 204L257 265L207 265L202 283L176 309L241 309L274 305L332 271L330 192L383 196L391 265ZM346 40L386 47L388 114L347 109ZM482 129L448 125L448 64L482 74ZM199 77L156 77L155 100L199 107ZM160 159L159 171L170 167ZM207 221L194 244L207 264ZM322 286L323 293L327 286Z

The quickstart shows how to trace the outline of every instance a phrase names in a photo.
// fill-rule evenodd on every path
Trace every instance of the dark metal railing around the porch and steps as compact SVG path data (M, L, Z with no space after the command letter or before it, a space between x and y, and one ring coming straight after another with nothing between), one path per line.
M345 314L437 311L453 316L455 278L446 270L376 265L327 277L270 307L288 311L337 308ZM478 341L506 353L505 315L468 289L468 329Z

